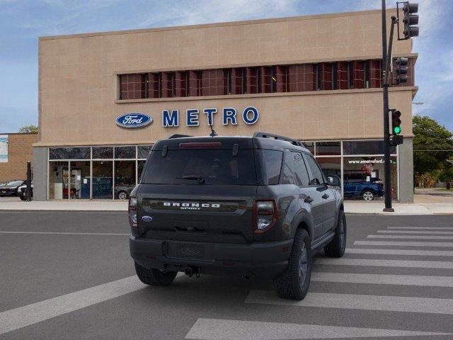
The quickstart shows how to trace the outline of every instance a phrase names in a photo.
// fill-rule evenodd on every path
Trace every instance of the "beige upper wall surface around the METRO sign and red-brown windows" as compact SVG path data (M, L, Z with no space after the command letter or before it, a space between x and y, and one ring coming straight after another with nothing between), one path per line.
M389 11L389 17L391 16ZM36 145L151 143L171 133L205 135L185 127L187 108L255 106L255 125L214 125L220 134L250 135L256 130L303 140L382 136L379 89L316 91L192 98L115 101L117 73L290 64L382 57L380 11L338 13L180 28L131 30L40 38L40 128ZM394 56L411 55L411 41L395 41ZM391 106L403 113L411 133L414 88L392 89ZM162 128L161 111L180 110L179 128ZM122 113L139 111L154 123L139 130L115 125ZM287 120L287 117L291 118Z

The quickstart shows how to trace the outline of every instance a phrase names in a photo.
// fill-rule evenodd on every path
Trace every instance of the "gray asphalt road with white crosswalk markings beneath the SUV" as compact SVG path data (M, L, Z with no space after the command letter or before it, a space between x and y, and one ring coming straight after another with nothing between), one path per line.
M226 276L143 285L122 212L0 221L0 339L453 339L451 216L348 215L345 256L316 256L297 302Z

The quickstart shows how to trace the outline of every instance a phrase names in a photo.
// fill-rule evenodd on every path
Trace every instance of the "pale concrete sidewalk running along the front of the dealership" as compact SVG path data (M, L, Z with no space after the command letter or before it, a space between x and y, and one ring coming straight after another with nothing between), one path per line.
M383 212L384 202L345 201L345 212L365 215L453 215L453 203L393 203L395 212ZM54 200L23 202L1 198L0 210L127 211L127 201Z

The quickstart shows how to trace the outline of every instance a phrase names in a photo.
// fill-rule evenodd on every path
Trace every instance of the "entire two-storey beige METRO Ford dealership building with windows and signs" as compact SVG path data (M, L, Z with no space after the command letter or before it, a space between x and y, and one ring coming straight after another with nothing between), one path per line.
M381 27L380 11L361 11L40 38L35 199L127 198L156 140L210 124L302 140L357 196L384 180ZM410 62L389 91L401 202L413 200L411 47L394 41Z

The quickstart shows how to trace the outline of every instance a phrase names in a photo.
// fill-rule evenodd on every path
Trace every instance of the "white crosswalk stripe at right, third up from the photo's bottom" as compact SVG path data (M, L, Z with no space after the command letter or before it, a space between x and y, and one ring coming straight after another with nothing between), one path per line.
M453 287L453 276L313 272L311 273L311 280L321 282L369 283L375 285L423 285L428 287Z

